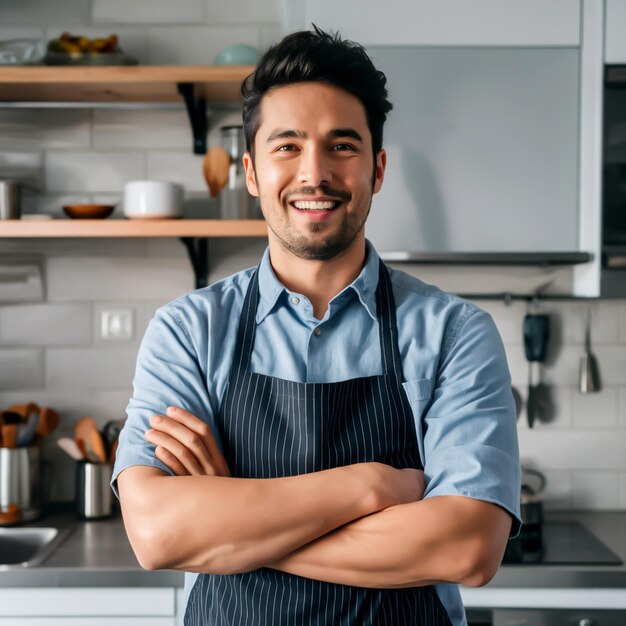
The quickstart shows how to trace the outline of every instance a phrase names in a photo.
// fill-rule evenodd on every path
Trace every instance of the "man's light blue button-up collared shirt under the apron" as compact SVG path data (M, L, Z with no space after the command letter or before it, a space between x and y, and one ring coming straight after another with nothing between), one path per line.
M259 268L251 369L296 382L336 382L382 373L376 319L379 257L367 242L356 280L315 318L306 296L274 274L269 249ZM144 439L149 419L180 406L215 428L253 268L160 308L146 330L120 435L113 486L132 465L172 473ZM424 473L424 497L492 502L520 520L520 466L511 379L491 317L456 296L391 270L398 342ZM419 529L416 529L419 532ZM189 593L195 574L187 574ZM454 626L466 624L456 585L436 585Z

